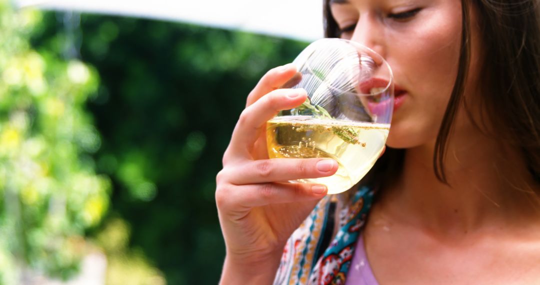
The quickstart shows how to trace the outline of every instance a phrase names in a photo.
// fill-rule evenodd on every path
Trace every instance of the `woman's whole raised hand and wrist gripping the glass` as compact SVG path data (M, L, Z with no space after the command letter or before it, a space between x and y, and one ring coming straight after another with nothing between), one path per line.
M307 97L303 89L279 89L295 75L288 64L262 77L225 151L215 192L227 250L224 284L273 281L285 242L327 192L323 185L283 181L326 177L338 169L332 159L268 159L266 121Z

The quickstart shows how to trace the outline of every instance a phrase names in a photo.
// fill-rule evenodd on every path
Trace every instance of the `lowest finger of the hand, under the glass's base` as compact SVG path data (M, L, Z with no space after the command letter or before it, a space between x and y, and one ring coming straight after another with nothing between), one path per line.
M326 186L318 184L264 183L218 188L215 198L220 209L241 209L316 200L327 192Z

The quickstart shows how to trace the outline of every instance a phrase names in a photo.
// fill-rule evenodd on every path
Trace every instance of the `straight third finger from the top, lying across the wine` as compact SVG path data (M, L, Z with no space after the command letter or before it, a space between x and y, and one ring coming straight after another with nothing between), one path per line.
M333 159L263 159L247 161L238 167L227 168L230 183L234 185L259 184L303 178L319 178L338 171L338 162ZM241 173L241 175L239 175ZM236 175L234 175L236 174Z

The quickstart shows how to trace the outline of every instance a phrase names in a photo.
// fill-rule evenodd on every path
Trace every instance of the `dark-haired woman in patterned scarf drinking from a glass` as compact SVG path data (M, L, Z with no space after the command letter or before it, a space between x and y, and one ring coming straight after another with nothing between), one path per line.
M540 282L539 19L535 0L325 0L326 35L379 52L404 90L388 149L343 195L280 182L337 164L267 159L265 121L306 98L278 89L294 66L269 71L217 177L221 282Z

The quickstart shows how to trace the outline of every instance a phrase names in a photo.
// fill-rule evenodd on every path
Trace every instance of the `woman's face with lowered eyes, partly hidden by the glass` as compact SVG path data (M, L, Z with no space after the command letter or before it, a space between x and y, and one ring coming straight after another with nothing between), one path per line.
M394 72L396 104L387 144L433 142L457 74L461 1L330 1L341 37L379 52Z

